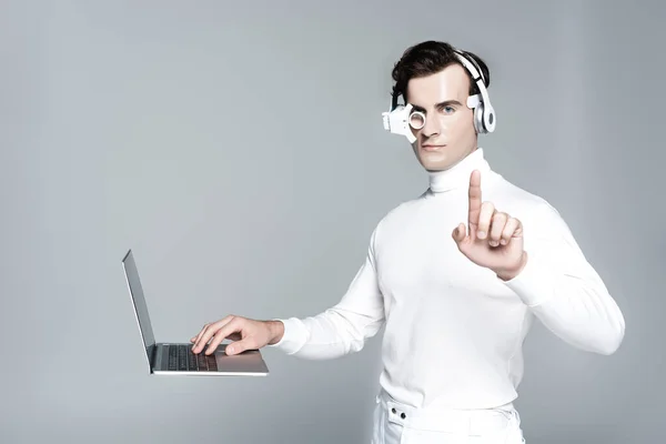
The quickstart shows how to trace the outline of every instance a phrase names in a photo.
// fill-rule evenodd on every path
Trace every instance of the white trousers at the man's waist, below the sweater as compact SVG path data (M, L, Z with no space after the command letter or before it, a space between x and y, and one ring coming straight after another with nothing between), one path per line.
M488 410L418 410L376 397L372 444L523 444L513 405Z

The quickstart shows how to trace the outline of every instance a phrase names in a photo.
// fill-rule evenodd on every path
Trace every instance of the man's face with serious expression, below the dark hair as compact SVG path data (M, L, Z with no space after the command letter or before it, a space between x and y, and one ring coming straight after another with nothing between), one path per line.
M460 64L423 78L411 79L406 97L425 124L412 129L418 162L428 171L446 170L476 149L474 110L467 108L470 78Z

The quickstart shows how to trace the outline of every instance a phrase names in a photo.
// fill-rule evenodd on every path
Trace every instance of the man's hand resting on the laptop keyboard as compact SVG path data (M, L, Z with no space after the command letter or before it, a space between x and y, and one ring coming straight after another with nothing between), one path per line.
M204 350L211 354L225 339L232 342L226 345L226 354L239 354L245 350L258 350L276 344L284 334L284 325L280 321L255 321L243 316L229 315L220 321L205 324L201 332L190 340L192 352ZM210 341L210 343L209 343Z

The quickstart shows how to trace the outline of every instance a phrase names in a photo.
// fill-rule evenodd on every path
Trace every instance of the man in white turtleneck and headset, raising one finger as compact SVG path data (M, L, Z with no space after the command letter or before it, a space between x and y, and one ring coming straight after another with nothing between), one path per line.
M385 326L373 443L522 443L513 401L534 319L607 355L624 317L558 212L484 159L477 137L495 118L483 60L426 41L404 52L393 79L405 107L394 100L392 111L408 113L430 188L377 223L335 306L303 320L226 316L191 340L194 353L229 337L229 354L269 345L333 359ZM401 122L391 115L385 125Z

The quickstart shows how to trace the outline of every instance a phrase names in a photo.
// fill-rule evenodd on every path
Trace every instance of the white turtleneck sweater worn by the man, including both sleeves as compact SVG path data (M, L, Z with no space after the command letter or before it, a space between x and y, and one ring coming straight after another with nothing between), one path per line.
M482 200L518 218L528 260L511 281L457 249L467 222L470 174ZM522 345L534 319L584 351L610 354L624 317L558 212L493 171L477 149L428 172L430 188L380 220L342 300L305 319L283 319L274 345L313 360L359 352L385 325L381 387L416 407L487 408L517 397Z

